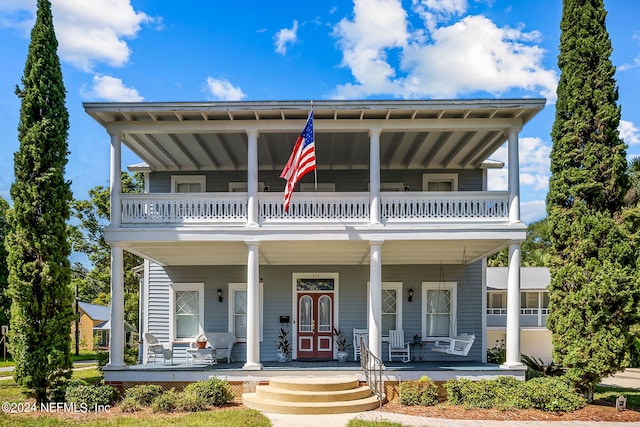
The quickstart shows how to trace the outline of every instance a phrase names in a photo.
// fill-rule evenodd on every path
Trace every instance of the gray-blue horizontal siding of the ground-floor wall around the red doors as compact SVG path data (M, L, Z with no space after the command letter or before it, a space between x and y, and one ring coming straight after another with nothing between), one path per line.
M260 278L264 283L263 340L260 345L261 360L276 360L275 339L280 328L281 315L290 316L293 303L293 273L330 272L339 274L338 324L351 336L353 328L367 326L367 282L369 266L260 266ZM460 265L443 266L444 280L458 283L457 330L474 334L476 341L469 356L455 357L428 350L424 360L482 360L482 263L465 268ZM439 265L383 265L384 282L402 282L403 325L405 339L421 332L422 282L440 281ZM246 268L238 266L184 266L159 267L151 264L149 289L149 330L161 341L169 339L169 283L204 283L204 326L209 331L228 330L228 283L246 282ZM218 302L217 289L223 290L222 303ZM409 288L413 288L413 302L407 301ZM293 323L288 325L290 329ZM285 325L287 327L287 325ZM430 346L430 345L428 345ZM180 357L178 351L177 357ZM387 358L386 344L382 349ZM238 343L233 358L246 360L246 347Z

